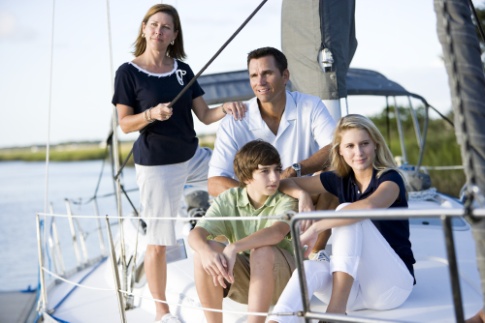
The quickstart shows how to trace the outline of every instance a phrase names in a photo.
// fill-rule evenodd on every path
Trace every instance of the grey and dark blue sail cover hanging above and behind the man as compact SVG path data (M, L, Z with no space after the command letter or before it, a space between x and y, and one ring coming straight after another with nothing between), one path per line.
M355 0L283 0L281 48L288 59L292 89L337 100L347 96L346 79L357 48ZM320 54L333 66L322 69Z

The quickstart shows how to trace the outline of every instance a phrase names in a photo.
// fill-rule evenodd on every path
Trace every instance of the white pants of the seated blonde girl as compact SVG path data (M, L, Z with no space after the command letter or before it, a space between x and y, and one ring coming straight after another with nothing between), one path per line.
M414 278L371 220L332 229L330 262L304 262L308 296L328 304L332 273L345 272L354 278L347 310L386 310L400 306L413 289ZM297 270L285 287L273 313L303 310ZM270 316L277 322L299 322L296 316Z

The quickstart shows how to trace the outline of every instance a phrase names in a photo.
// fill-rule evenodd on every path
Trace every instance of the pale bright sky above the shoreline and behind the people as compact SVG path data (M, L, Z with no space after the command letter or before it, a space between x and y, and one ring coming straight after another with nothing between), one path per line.
M195 73L209 61L259 0L173 0L181 16L186 62ZM451 109L431 0L358 0L359 42L351 67L373 69ZM103 141L109 132L114 73L133 59L132 44L154 1L0 1L0 148ZM281 3L268 0L205 73L246 68L246 55L281 48ZM477 2L479 3L479 2ZM290 73L291 73L291 66ZM361 113L384 104L361 101ZM196 122L214 133L217 124ZM136 135L124 135L129 140Z

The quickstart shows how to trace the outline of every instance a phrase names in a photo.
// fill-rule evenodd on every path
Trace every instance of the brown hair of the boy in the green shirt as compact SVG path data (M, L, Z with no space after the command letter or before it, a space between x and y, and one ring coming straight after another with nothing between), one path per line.
M280 154L273 145L258 139L245 144L234 157L234 172L241 187L253 178L253 171L258 165L278 165L281 167Z

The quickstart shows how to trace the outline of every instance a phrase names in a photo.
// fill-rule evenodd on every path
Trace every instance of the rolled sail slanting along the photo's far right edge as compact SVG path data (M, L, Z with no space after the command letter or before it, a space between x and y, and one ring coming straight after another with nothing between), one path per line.
M456 0L435 0L434 9L455 113L455 132L461 145L465 174L468 182L473 179L472 184L477 185L484 194L485 77L471 10L467 1ZM465 127L462 127L463 124ZM468 139L467 145L465 138ZM485 302L485 220L472 223L472 229Z

